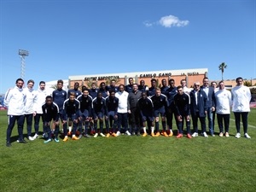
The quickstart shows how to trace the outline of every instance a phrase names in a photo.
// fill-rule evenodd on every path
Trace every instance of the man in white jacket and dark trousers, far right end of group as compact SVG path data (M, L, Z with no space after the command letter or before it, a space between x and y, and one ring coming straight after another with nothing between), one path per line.
M242 121L244 137L251 138L247 134L248 113L250 112L250 101L252 98L251 91L247 86L243 85L241 77L236 78L236 87L232 88L232 111L235 115L236 122L236 138L240 138L240 120Z

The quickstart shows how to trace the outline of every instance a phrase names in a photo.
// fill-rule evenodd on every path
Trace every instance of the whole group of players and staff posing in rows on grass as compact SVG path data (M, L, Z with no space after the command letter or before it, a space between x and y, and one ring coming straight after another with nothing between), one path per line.
M241 137L240 122L242 121L244 137L247 134L247 116L250 112L251 93L243 85L241 77L236 79L236 86L226 90L224 81L209 84L204 78L203 84L195 82L193 90L186 87L183 79L175 86L174 79L162 79L159 88L156 79L151 79L151 86L144 80L135 84L129 79L129 84L116 86L115 80L107 86L104 82L96 88L82 87L74 84L72 90L62 90L63 81L57 81L57 89L49 93L45 82L39 83L38 90L33 90L34 81L28 80L26 88L23 79L16 80L16 86L5 94L4 105L8 107L9 125L7 128L6 146L11 146L11 132L17 121L19 139L26 143L23 137L23 126L26 120L26 131L29 140L39 136L39 122L43 121L44 143L59 142L60 125L63 131L63 141L68 136L72 140L81 137L118 137L121 132L126 135L142 134L143 137L172 137L174 119L177 125L177 138L183 137L184 126L188 138L198 137L198 121L201 125L201 135L214 137L214 121L217 113L219 137L229 137L230 108L235 114L236 138ZM32 137L32 119L34 119L35 134ZM191 133L190 119L194 132ZM207 119L207 120L206 120ZM161 122L161 129L160 129ZM105 123L105 131L103 125Z

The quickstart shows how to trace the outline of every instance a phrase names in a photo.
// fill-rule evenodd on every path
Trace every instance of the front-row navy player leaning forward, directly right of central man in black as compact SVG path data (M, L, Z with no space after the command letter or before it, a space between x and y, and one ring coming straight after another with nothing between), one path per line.
M148 129L151 128L151 135L154 137L154 106L150 98L148 98L146 92L142 92L142 97L137 102L141 119L143 123L143 137L146 137L146 122L148 123Z

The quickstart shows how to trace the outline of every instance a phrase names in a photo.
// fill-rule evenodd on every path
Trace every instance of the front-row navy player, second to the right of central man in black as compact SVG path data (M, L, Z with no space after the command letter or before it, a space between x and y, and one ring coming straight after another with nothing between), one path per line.
M168 106L167 97L161 94L160 88L155 88L155 95L150 97L154 105L154 123L155 123L155 136L159 137L159 115L162 118L162 134L168 137L166 133L166 108Z

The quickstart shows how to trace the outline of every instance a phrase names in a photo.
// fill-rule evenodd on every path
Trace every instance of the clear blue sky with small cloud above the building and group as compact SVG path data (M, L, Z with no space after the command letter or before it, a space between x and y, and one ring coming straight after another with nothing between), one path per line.
M190 68L256 78L254 0L0 0L0 93L25 80Z

